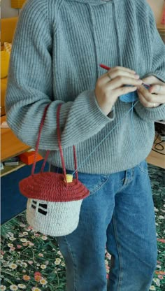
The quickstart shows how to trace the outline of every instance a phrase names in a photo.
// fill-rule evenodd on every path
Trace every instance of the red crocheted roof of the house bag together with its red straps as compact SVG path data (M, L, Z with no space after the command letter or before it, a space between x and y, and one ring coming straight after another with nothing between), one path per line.
M84 185L82 185L82 183L80 183L80 181L78 180L78 171L76 171L76 179L72 179L72 182L67 183L66 168L61 145L61 133L59 128L59 113L60 108L62 107L61 104L59 104L57 108L57 139L59 143L60 156L62 159L63 174L43 172L45 162L48 159L48 155L50 153L49 150L44 159L41 172L34 174L36 166L36 156L38 153L38 147L41 139L41 132L45 122L48 107L49 105L45 107L45 111L43 113L43 118L41 120L41 125L38 132L38 139L36 143L36 154L34 157L34 164L31 170L31 176L24 178L23 180L20 180L19 183L20 192L27 198L34 198L53 202L59 201L64 202L83 199L87 197L87 195L89 194L89 190L87 190L87 188ZM75 168L77 168L75 146L73 146L73 153Z

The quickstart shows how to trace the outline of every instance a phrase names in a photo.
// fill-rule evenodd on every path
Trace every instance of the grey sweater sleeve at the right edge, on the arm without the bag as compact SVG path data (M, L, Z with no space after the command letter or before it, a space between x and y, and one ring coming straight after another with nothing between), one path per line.
M165 45L162 41L152 9L148 4L148 20L150 22L150 38L152 48L151 69L143 78L155 76L165 82ZM165 119L165 104L156 108L146 108L140 102L135 106L136 113L145 121L157 121Z

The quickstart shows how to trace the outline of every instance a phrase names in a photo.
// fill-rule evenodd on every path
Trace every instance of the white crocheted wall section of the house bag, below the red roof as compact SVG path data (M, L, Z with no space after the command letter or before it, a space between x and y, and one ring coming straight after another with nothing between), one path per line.
M36 231L50 236L64 236L77 228L82 200L64 203L36 201L36 209L31 208L33 201L27 201L27 222ZM45 215L38 212L42 209L40 204L47 206Z

